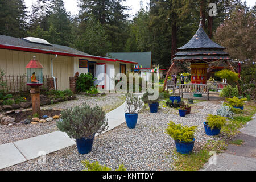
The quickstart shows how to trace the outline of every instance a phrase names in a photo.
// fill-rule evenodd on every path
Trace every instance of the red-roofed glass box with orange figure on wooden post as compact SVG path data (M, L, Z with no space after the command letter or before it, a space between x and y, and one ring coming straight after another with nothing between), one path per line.
M31 102L32 114L39 114L40 116L40 86L43 85L43 66L36 57L28 63L27 67L27 85L31 86Z

